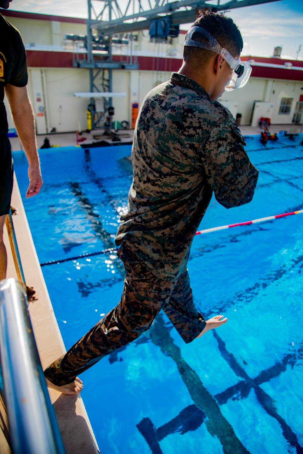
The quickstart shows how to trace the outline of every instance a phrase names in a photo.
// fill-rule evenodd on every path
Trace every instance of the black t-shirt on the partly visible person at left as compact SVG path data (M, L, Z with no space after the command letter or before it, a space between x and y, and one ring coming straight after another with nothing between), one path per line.
M25 87L27 63L20 32L0 14L0 134L8 132L4 99L7 84Z

